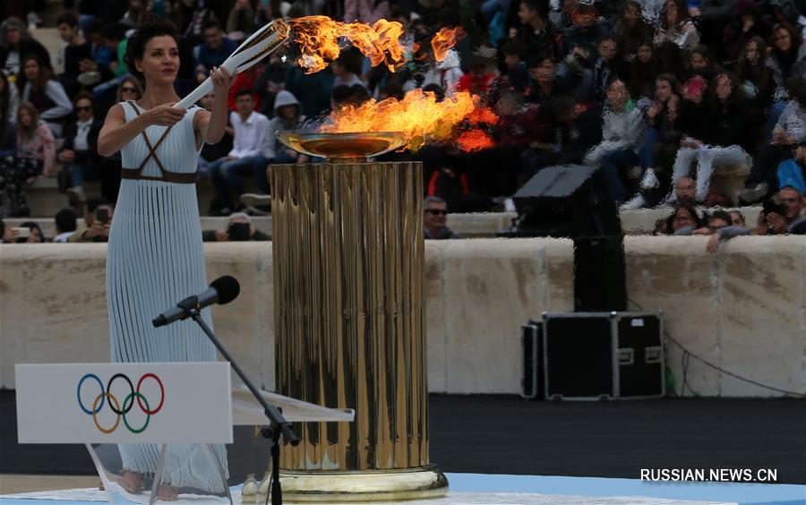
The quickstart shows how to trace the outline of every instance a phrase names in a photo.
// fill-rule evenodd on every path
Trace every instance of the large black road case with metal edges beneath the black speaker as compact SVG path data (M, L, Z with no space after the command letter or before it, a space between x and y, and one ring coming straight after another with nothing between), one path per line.
M665 394L661 313L543 314L545 398L658 398Z

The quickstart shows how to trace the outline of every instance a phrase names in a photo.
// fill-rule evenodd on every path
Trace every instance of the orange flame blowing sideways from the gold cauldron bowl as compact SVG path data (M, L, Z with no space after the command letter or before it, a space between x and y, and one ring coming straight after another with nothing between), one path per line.
M429 91L412 90L402 100L386 98L368 100L359 106L345 104L333 112L322 124L323 133L400 132L406 136L406 148L418 150L426 142L447 142L463 134L462 127L476 130L478 122L494 123L496 116L480 104L480 98L468 92L454 93L438 101ZM471 138L472 137L472 138ZM459 145L466 150L471 146L487 146L481 135L472 133L467 142ZM467 149L470 148L470 149ZM483 149L483 148L477 148Z

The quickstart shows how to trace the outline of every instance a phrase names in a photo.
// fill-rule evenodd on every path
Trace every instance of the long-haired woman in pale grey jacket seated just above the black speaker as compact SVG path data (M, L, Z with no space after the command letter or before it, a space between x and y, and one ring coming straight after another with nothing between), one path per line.
M627 85L615 79L607 87L602 141L585 156L585 162L600 165L613 201L627 200L622 172L639 163L638 150L643 139L643 113L630 101Z

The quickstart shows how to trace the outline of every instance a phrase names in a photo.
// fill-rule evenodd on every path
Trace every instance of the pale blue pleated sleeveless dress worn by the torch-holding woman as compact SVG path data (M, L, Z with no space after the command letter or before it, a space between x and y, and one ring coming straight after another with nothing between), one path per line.
M134 102L121 106L126 122L144 112ZM162 328L151 324L160 312L208 286L196 186L166 182L159 167L161 163L167 172L194 180L201 150L196 149L193 116L199 110L199 107L188 110L161 142L167 126L152 125L144 132L149 143L138 135L121 150L124 172L126 168L139 167L142 171L139 178L122 180L109 234L107 304L113 363L216 360L215 347L192 320ZM159 162L150 155L152 147ZM148 161L142 165L146 158ZM202 318L212 327L209 309L202 311ZM203 391L188 394L204 398ZM156 471L158 446L119 447L124 469L142 474ZM220 444L211 447L227 472L225 447ZM164 484L217 492L223 489L208 446L169 446L165 468Z

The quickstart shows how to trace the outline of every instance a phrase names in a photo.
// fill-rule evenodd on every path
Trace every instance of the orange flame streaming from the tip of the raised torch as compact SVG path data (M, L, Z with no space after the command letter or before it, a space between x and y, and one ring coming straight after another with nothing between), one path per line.
M405 63L406 50L400 40L403 25L398 21L376 21L372 26L363 22L341 22L327 16L305 16L290 21L294 39L300 48L298 60L305 73L316 73L339 57L339 39L349 40L373 66L385 64L394 72ZM437 61L442 61L450 47L456 44L461 30L443 28L433 36L431 45Z

